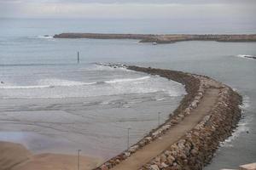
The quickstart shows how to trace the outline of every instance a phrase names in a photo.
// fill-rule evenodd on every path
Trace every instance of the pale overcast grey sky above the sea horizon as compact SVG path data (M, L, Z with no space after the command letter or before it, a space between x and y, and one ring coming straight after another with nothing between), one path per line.
M0 17L256 19L256 0L0 0Z

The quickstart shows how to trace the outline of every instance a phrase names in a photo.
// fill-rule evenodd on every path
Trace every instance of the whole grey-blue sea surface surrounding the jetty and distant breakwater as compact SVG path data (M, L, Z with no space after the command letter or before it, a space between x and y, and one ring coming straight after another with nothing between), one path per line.
M55 39L61 32L255 33L255 25L172 26L150 20L0 19L0 140L34 153L108 159L136 143L175 110L183 85L95 63L121 63L207 75L243 96L242 119L207 170L255 161L255 42ZM48 37L44 37L48 35ZM77 63L77 52L80 62ZM159 119L160 117L160 119ZM129 143L128 142L128 128Z

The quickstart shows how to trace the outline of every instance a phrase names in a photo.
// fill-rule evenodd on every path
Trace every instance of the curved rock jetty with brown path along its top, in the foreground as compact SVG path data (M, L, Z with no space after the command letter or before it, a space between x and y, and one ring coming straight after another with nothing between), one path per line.
M241 96L209 77L150 67L126 68L180 82L188 94L164 124L96 170L202 169L236 127Z

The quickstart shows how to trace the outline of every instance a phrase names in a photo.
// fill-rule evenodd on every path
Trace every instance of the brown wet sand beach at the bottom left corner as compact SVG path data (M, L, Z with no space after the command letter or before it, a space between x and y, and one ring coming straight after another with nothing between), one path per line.
M0 142L0 170L74 170L78 168L78 156L64 154L33 155L21 144ZM102 160L80 156L80 169L89 170Z

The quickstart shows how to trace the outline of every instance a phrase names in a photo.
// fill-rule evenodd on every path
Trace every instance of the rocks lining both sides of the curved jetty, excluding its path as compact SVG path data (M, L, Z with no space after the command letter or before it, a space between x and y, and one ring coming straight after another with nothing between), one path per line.
M119 65L110 66L119 67ZM183 97L180 105L164 124L151 130L137 144L133 144L128 150L106 161L95 170L111 169L132 156L137 150L154 142L155 139L159 139L166 131L182 122L185 116L195 110L201 103L201 99L204 98L207 89L217 88L219 91L217 101L212 105L212 109L207 112L207 116L190 132L186 133L181 139L177 139L176 143L170 144L169 148L160 153L160 155L155 156L151 161L148 161L140 169L200 170L207 165L212 160L215 150L218 149L218 144L227 139L233 129L236 128L236 124L241 117L239 108L241 96L233 91L232 88L209 77L182 71L144 68L133 65L125 65L125 68L132 71L143 71L151 75L159 75L160 77L180 82L185 85L188 94Z

